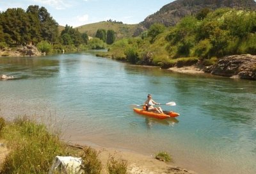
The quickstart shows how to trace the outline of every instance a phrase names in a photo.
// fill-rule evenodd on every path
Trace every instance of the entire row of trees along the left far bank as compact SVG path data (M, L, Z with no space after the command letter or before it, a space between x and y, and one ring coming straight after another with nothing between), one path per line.
M0 12L0 48L16 47L17 45L33 44L40 51L101 49L106 43L115 41L115 31L98 29L95 37L89 41L86 32L66 25L60 32L56 20L51 17L46 8L37 5L22 8L8 8Z

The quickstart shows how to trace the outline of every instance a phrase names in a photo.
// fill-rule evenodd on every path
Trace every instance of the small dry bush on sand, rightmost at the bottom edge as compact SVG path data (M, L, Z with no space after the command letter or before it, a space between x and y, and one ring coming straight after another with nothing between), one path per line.
M127 173L127 161L116 161L114 157L110 157L110 159L108 159L108 172L109 174Z

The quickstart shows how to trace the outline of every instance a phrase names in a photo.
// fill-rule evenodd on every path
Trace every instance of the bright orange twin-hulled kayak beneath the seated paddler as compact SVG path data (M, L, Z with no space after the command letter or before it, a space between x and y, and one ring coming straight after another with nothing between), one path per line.
M140 115L147 115L147 116L151 116L151 117L158 118L158 119L165 119L165 118L179 116L178 113L174 113L173 111L167 111L167 112L164 111L164 114L145 111L145 110L139 109L139 108L133 108L133 111Z

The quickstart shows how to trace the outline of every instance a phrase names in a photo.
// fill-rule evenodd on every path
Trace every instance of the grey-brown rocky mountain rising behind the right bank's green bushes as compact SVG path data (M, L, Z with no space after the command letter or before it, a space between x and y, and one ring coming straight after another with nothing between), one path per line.
M177 0L166 4L158 12L149 15L140 25L149 28L154 23L164 26L174 26L182 17L194 15L202 8L216 10L216 8L237 8L256 10L253 0Z

